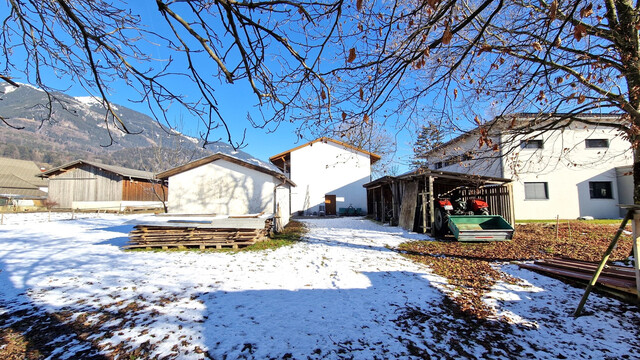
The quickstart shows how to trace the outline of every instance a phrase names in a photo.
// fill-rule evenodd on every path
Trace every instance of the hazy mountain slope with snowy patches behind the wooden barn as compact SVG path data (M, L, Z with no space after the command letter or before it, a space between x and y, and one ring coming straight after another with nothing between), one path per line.
M198 139L167 130L121 105L116 111L131 134L112 124L108 131L106 110L97 100L54 95L51 119L44 121L49 113L44 91L26 84L0 84L0 116L11 125L0 122L0 156L51 166L82 158L160 171L212 153L202 149Z

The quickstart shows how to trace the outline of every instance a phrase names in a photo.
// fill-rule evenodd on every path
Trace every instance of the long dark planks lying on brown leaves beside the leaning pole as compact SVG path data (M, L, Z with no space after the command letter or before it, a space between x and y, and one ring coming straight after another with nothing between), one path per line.
M536 261L533 264L520 264L520 267L551 277L589 283L598 264L574 259L553 258ZM606 265L598 277L596 288L621 297L626 297L626 294L635 295L635 271L631 267Z

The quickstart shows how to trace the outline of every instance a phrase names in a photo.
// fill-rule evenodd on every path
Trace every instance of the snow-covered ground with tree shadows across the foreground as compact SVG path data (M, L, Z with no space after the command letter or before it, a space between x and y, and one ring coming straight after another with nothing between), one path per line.
M472 326L444 279L389 249L423 236L363 219L306 220L307 239L277 250L200 253L122 251L141 216L13 216L0 327L54 315L69 330L53 358L640 357L636 307L593 294L574 319L582 290L516 265L503 270L525 285L486 299L503 320Z

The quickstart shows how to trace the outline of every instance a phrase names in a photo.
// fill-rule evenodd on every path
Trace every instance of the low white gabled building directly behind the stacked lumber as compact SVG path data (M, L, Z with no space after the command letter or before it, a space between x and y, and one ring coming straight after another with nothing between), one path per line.
M289 193L295 184L273 165L250 156L216 153L157 177L168 179L169 213L270 215L280 206L283 225L289 222Z

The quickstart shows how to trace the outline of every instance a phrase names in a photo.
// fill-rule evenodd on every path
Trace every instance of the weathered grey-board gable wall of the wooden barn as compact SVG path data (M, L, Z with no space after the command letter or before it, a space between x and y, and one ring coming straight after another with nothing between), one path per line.
M67 209L73 201L122 201L122 178L81 164L49 178L49 199Z

